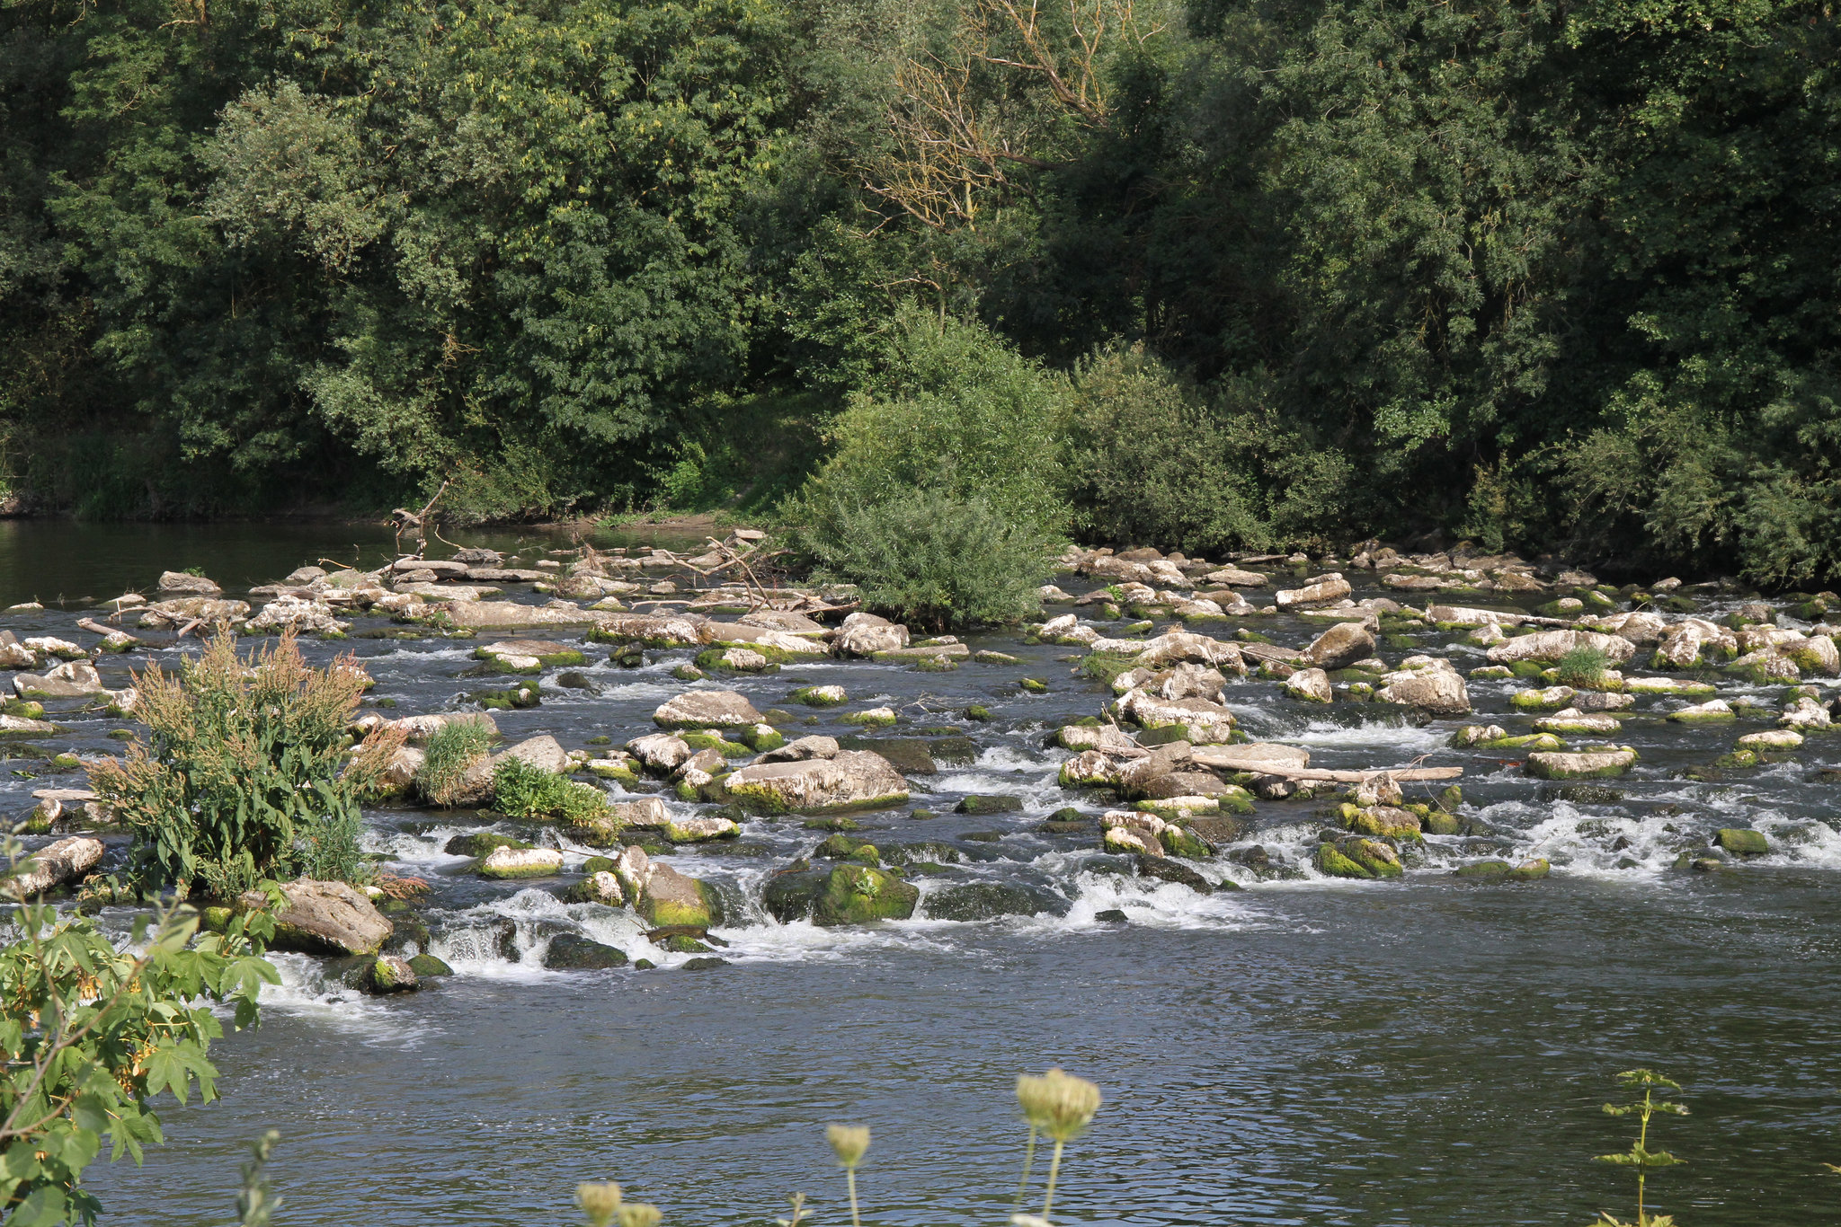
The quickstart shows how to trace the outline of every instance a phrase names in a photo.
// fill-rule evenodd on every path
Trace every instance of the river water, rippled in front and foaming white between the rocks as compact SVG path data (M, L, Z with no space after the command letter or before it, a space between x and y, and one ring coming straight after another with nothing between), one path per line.
M569 545L536 532L457 541L523 548L527 561ZM0 522L0 603L70 600L0 625L88 644L74 631L79 611L147 589L162 568L201 567L236 594L318 557L374 563L390 545L388 532L352 526ZM376 625L357 618L353 629ZM1320 629L1300 618L1250 625L1292 646ZM1106 1093L1092 1133L1068 1148L1057 1221L1583 1225L1600 1207L1629 1218L1633 1181L1591 1155L1626 1146L1629 1122L1600 1104L1615 1096L1613 1074L1637 1065L1685 1082L1694 1109L1661 1118L1659 1144L1688 1163L1651 1181L1651 1209L1683 1227L1841 1221L1841 1177L1823 1166L1841 1163L1841 787L1821 773L1841 765L1841 736L1812 736L1791 762L1694 782L1683 769L1723 752L1734 730L1662 723L1681 701L1642 699L1618 736L1642 752L1638 767L1609 787L1569 789L1449 749L1451 730L1471 721L1419 725L1386 708L1302 705L1268 681L1233 682L1226 701L1248 732L1309 747L1313 765L1421 754L1464 765L1464 813L1497 833L1429 837L1403 881L1326 879L1307 863L1322 802L1259 802L1248 843L1294 874L1259 879L1217 857L1198 868L1245 889L1204 896L1095 872L1092 830L1038 830L1066 804L1103 808L1057 786L1066 752L1046 736L1095 714L1110 692L1070 675L1077 649L1018 633L968 642L1022 664L917 673L825 662L720 684L760 710L792 706L799 684L849 690L843 708L793 708L814 723L788 734L854 732L838 716L884 703L909 730L961 728L976 758L913 776L913 802L863 815L863 835L955 846L965 863L920 879L924 892L1016 881L1066 914L781 925L760 911L758 887L823 833L757 819L736 843L668 857L751 901L718 931L727 966L692 971L685 955L654 949L628 912L562 903L562 879L486 883L442 854L453 833L492 824L554 831L379 809L368 815L370 848L436 883L427 920L457 975L376 999L328 984L313 958L278 955L285 984L265 995L261 1028L214 1049L223 1100L168 1106L169 1144L145 1166L98 1164L107 1221L228 1221L241 1148L274 1128L282 1223L573 1223L574 1185L606 1177L659 1201L666 1223L768 1223L792 1190L808 1194L817 1221L838 1223L843 1183L823 1126L862 1122L874 1130L865 1221L1002 1223L1024 1139L1013 1082L1049 1063ZM1480 649L1451 642L1425 635L1410 651L1480 662ZM307 644L315 659L348 648L377 679L370 701L394 701L394 716L449 710L482 684L462 677L468 642ZM644 668L622 670L591 651L591 690L547 684L541 706L501 712L499 727L508 741L547 732L565 747L624 743L685 688L668 670L687 655L648 653ZM1394 662L1408 649L1381 655ZM131 664L103 657L105 681L125 682ZM1024 677L1046 679L1048 692L1025 692ZM1480 723L1526 728L1510 690L1471 682ZM1754 697L1775 706L1777 692ZM961 719L970 703L992 719ZM57 719L70 732L46 749L118 745L105 734L120 721ZM26 776L42 763L17 745L9 754L0 804L24 811L44 786ZM1024 808L952 813L970 793L1014 795ZM1723 826L1766 830L1775 852L1734 872L1673 868ZM562 846L571 868L593 852ZM1451 876L1480 855L1541 855L1554 874L1517 885ZM1108 909L1129 923L1095 920ZM514 958L501 949L506 929ZM571 931L661 966L543 969L549 938Z

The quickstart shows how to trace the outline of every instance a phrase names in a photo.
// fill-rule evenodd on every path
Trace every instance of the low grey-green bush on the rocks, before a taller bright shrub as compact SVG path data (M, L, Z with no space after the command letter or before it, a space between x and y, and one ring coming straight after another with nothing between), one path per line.
M854 583L865 607L933 629L1016 622L1053 570L1036 528L939 489L832 502L799 541L821 579Z

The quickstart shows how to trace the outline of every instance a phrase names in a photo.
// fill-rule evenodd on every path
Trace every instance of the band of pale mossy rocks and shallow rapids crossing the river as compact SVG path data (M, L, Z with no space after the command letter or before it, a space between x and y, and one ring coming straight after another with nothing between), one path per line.
M961 640L847 591L724 583L749 548L447 550L230 592L166 572L98 607L9 609L15 808L72 885L107 872L123 841L81 763L133 730L131 670L228 624L291 627L376 679L353 736L396 723L409 745L366 841L433 889L381 900L390 935L361 953L434 979L720 969L943 923L1191 925L1241 892L1399 877L1841 866L1834 594L1379 543L1077 550L1038 624ZM418 747L453 721L499 741L436 806ZM604 813L493 813L506 758Z

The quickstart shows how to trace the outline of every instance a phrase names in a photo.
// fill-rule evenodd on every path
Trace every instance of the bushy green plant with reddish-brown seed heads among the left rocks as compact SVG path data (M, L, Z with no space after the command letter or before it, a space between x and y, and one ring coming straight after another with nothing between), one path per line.
M293 633L245 660L226 631L179 673L138 673L149 745L90 769L133 833L134 876L232 898L309 868L355 874L359 795L388 734L374 734L342 776L339 758L368 681L353 657L309 666Z

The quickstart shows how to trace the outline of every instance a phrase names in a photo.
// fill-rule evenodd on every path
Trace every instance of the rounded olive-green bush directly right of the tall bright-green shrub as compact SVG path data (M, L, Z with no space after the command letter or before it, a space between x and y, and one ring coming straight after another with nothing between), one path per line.
M1062 453L1077 532L1191 554L1265 545L1257 489L1193 388L1141 348L1075 368Z

